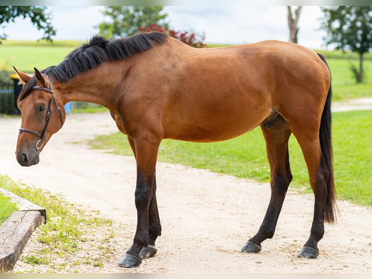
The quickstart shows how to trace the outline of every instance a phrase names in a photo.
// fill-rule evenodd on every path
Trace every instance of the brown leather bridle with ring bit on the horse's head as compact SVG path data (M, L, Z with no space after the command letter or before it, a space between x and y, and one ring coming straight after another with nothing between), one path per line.
M45 120L44 128L40 132L36 132L34 130L30 130L30 129L27 129L27 128L19 128L19 133L26 132L26 133L34 134L34 135L40 137L40 140L38 140L36 142L36 151L38 151L45 144L44 136L45 136L45 132L46 132L47 127L48 127L49 120L51 118L51 113L53 112L53 107L52 107L53 100L54 100L55 105L58 108L59 116L61 117L61 126L63 125L62 111L61 111L61 108L58 106L57 101L55 100L55 97L53 95L54 91L53 91L53 86L51 84L51 79L47 75L44 75L44 76L47 78L47 80L49 82L49 87L50 88L46 88L46 87L42 87L42 86L40 86L40 87L38 87L38 86L32 87L32 89L43 90L43 91L46 91L48 93L51 93L51 100L49 101L48 114L47 114L47 118Z

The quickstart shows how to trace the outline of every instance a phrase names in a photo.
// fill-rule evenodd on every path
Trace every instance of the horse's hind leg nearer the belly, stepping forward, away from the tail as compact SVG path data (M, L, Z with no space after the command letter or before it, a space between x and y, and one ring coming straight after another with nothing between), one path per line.
M288 140L291 135L287 121L280 115L261 125L266 141L267 157L271 170L271 198L266 215L258 232L241 248L244 253L258 253L261 243L272 238L283 206L292 173L289 166Z

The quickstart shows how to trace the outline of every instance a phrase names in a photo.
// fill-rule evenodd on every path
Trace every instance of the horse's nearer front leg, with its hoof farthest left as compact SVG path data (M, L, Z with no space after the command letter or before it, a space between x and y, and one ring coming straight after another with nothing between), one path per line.
M118 265L121 267L139 266L142 262L140 251L149 243L149 209L151 208L154 194L155 165L160 140L153 137L151 133L148 133L142 137L134 138L133 143L137 164L137 181L135 187L137 227L131 248L118 262ZM151 215L153 216L153 213Z

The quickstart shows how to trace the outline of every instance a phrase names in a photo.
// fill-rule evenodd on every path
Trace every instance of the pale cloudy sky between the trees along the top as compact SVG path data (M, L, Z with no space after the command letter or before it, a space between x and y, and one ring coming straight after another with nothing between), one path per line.
M88 40L98 33L105 20L103 6L48 6L56 40ZM244 44L266 39L287 41L287 6L208 5L164 6L169 25L174 30L204 34L204 43ZM326 49L320 30L319 6L304 6L299 20L298 43L312 49ZM30 19L17 18L4 30L9 40L36 40L42 37Z

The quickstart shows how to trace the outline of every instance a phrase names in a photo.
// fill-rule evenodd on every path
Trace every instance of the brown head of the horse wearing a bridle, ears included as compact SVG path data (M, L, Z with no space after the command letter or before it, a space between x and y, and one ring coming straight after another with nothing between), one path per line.
M16 157L21 166L32 166L39 162L39 153L51 135L61 129L66 113L59 92L53 89L48 75L36 68L34 76L14 69L19 83L23 84L17 101L22 121Z

